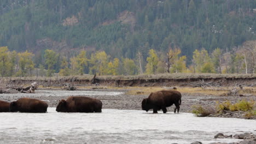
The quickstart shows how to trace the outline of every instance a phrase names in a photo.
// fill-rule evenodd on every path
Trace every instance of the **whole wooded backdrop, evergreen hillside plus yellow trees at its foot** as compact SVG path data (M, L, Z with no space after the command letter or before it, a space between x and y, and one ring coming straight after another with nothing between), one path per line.
M254 0L1 0L1 76L256 73Z

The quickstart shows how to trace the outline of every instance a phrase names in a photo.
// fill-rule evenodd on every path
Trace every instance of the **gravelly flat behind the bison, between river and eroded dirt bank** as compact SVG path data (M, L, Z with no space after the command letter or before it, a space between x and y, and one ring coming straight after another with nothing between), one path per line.
M86 95L80 93L81 96L92 97L96 99L100 99L103 103L103 109L120 109L120 110L141 110L141 101L144 98L147 98L151 92L160 91L161 89L172 89L172 88L161 88L161 87L152 87L152 88L140 88L140 87L101 87L101 86L92 86L92 87L83 87L77 88L78 91L93 91L93 92L123 92L119 95L104 95L104 94L96 94L96 95ZM222 91L213 91L213 94L203 93L198 91L197 88L190 88L191 92L187 92L188 89L184 89L182 87L177 87L177 91L182 93L182 105L180 112L192 112L193 105L202 105L203 107L208 107L210 109L215 109L217 105L217 101L219 103L223 103L226 100L229 100L231 103L236 103L239 100L256 100L255 95L249 95L247 97L240 96L222 96ZM44 90L44 91L42 91ZM44 100L48 103L49 107L56 107L61 99L67 99L69 96L72 96L73 92L69 91L70 94L65 96L59 95L58 97L54 95L44 95L43 93L51 93L51 91L63 91L60 88L38 88L36 94L24 94L22 96L17 96L16 93L11 94L0 94L0 100L4 101L15 101L20 97L29 97ZM200 89L199 89L200 90ZM40 94L42 93L42 94ZM171 107L167 107L167 112L173 112L174 105ZM159 111L161 113L162 111ZM233 118L245 118L244 112L232 112L229 114L225 113L223 115L218 115L216 117L233 117ZM213 116L213 115L212 115ZM214 115L215 116L215 115ZM255 117L252 117L256 119Z

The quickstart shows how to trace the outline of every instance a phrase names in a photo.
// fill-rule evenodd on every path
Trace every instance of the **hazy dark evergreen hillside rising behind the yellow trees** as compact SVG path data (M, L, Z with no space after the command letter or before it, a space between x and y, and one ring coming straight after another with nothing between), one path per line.
M186 61L185 67L189 67L195 63L196 50L213 53L219 48L222 54L231 52L229 56L235 56L237 47L256 39L255 18L254 0L2 0L0 46L33 53L37 68L40 64L47 66L46 49L65 56L68 63L80 50L85 50L88 57L99 51L106 52L110 59L137 61L139 57L141 71L147 69L150 50L162 61L166 61L163 56L170 50L179 50L178 54L185 56L180 62ZM56 60L57 72L61 59ZM167 63L167 71L173 67L173 62ZM240 63L239 67L249 66ZM237 69L242 68L232 73L245 70ZM89 68L86 71L89 73Z

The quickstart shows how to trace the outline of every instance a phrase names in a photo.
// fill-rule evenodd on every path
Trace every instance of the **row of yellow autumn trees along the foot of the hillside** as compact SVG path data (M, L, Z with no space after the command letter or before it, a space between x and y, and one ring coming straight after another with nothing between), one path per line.
M45 50L42 58L31 52L9 51L0 47L1 76L61 76L97 75L137 75L161 73L256 73L256 40L246 41L242 46L223 52L219 48L212 53L195 50L188 64L179 47L169 47L167 53L154 49L148 51L146 62L141 52L136 57L111 57L105 51L97 51L89 56L85 50L67 58L53 50ZM40 61L38 61L40 59ZM37 63L37 64L36 64ZM35 69L36 68L36 69Z

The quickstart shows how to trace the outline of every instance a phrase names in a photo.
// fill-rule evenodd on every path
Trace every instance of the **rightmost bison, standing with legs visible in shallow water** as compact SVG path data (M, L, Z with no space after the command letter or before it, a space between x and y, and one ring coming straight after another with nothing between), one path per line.
M181 105L181 93L178 91L158 91L150 93L149 97L142 100L142 110L148 111L153 109L153 113L158 113L162 109L164 113L167 112L166 107L175 105L174 113L179 112L179 105Z

